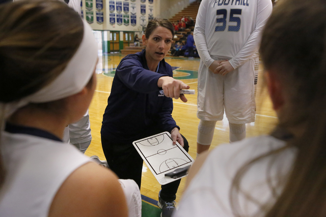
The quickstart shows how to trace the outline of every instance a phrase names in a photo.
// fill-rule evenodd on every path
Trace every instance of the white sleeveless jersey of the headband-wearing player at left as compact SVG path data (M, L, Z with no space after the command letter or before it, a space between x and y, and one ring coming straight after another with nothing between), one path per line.
M6 180L0 216L44 217L66 178L89 162L73 145L27 134L2 132Z

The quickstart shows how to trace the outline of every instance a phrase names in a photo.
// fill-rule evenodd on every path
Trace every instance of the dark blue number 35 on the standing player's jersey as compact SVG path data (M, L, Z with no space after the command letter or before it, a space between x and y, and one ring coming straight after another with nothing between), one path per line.
M234 17L235 14L241 15L242 9L230 9L230 19L229 22L236 22L237 25L228 25L229 32L239 32L241 19L240 17ZM223 15L223 18L216 19L217 23L222 23L222 25L215 26L215 32L223 32L226 29L226 17L227 10L220 9L216 11L216 15Z

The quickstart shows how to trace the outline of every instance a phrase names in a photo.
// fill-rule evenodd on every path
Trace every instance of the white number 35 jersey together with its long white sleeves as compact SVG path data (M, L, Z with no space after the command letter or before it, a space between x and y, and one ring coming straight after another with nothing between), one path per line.
M236 69L250 59L272 7L270 0L203 0L194 29L203 63L209 67L214 56L229 59Z

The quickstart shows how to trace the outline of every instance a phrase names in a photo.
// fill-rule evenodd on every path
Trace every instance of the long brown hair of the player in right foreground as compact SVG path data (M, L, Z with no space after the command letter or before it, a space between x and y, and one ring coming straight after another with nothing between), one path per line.
M293 148L296 157L290 173L278 177L277 186L270 184L276 202L271 199L261 206L266 217L326 216L325 14L324 0L280 1L262 35L264 67L279 78L288 104L279 114L278 127L297 133L285 147L243 166L233 181L231 196L235 204L240 179L251 165Z

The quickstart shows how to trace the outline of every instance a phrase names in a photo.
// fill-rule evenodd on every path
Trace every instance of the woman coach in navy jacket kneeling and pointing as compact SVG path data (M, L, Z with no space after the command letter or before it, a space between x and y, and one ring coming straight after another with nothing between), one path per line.
M133 141L168 131L173 142L178 141L188 151L188 143L171 115L172 98L180 97L186 102L180 89L189 88L172 78L172 68L164 60L173 35L173 25L168 20L154 19L148 23L143 35L145 49L121 60L103 115L101 140L107 163L120 178L133 179L139 187L143 160ZM162 185L162 216L171 215L179 183L177 180Z

